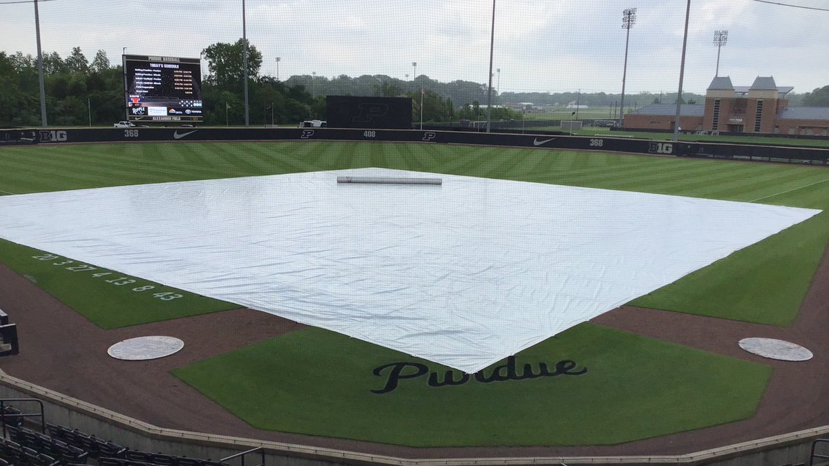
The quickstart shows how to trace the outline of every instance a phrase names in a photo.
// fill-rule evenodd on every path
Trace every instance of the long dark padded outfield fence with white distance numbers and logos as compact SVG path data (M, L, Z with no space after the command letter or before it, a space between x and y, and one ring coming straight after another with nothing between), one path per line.
M133 128L0 130L0 145L32 143L121 143L170 141L384 141L449 143L514 148L555 148L662 156L829 164L829 149L734 143L569 136L560 133L477 133L438 129L336 128Z

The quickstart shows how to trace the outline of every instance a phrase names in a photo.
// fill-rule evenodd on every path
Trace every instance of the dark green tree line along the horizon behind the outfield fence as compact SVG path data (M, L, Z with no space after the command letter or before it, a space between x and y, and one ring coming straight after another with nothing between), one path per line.
M202 81L204 124L221 126L245 123L242 39L234 43L217 42L207 46L202 55L207 61L207 75ZM248 44L248 90L250 124L297 124L305 119L326 119L326 95L366 95L410 97L412 120L419 121L421 103L424 123L453 122L485 118L487 85L465 80L440 82L427 75L400 80L388 75L293 75L288 80L260 73L262 54ZM99 50L89 61L80 47L69 56L56 51L43 55L46 113L50 125L109 126L124 119L124 70L112 64L106 52ZM512 93L497 95L492 90L492 120L522 119L520 111L502 108L506 103L532 102L536 105L578 102L589 106L610 107L620 95L599 93ZM676 102L673 95L640 93L626 95L626 103L643 106L650 103ZM685 94L687 103L702 102L704 96ZM829 106L829 85L804 95L789 95L791 104ZM628 105L626 105L627 107ZM38 126L40 91L37 59L18 51L0 51L0 127Z

